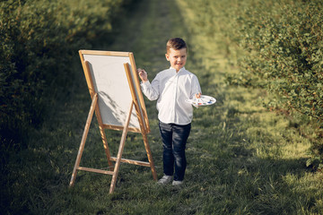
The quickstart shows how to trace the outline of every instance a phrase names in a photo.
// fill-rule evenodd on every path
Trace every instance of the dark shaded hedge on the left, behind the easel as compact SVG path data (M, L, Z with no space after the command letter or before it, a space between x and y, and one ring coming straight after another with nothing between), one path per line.
M0 142L26 145L30 127L74 82L77 50L109 38L130 0L8 0L0 3ZM106 39L108 39L106 38ZM77 61L77 63L79 63Z

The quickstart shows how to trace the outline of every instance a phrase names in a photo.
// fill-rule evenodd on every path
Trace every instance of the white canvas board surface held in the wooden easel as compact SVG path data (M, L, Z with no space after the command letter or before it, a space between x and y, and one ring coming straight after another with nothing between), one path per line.
M99 96L103 124L124 126L132 101L124 67L125 63L130 64L129 57L83 55L83 58L89 62L94 90ZM140 129L135 107L129 127Z

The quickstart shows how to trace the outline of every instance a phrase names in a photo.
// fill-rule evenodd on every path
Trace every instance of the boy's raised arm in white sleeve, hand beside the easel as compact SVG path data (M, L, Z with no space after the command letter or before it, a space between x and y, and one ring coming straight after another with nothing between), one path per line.
M147 78L147 73L143 69L137 69L137 72L139 74L140 79L142 80L142 83L140 84L143 90L144 95L147 97L147 99L155 100L159 98L159 80L156 76L155 79L153 79L152 84L149 82Z

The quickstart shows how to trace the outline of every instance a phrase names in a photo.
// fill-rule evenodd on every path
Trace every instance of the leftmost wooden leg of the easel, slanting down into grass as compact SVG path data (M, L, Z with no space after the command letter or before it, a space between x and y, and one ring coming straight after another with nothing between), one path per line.
M85 127L84 127L84 132L83 132L80 148L78 150L77 157L76 157L76 160L75 160L75 165L74 165L74 169L73 169L73 173L72 173L72 177L71 177L71 181L70 181L70 186L74 185L75 178L76 178L76 175L77 175L77 169L80 167L80 162L81 162L81 158L82 158L82 154L83 154L85 141L86 141L86 138L87 138L87 134L89 133L89 129L90 129L91 121L92 121L92 116L93 116L93 113L94 113L94 107L96 106L97 102L98 102L98 94L95 93L95 95L93 96L93 99L92 99L92 104L91 104L91 107L90 107L89 115L87 117L86 124L85 124Z

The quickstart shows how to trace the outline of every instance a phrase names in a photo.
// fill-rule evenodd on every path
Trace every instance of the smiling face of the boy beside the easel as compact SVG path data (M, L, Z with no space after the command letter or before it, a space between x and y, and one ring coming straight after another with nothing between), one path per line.
M186 64L187 48L183 47L178 50L170 48L169 52L165 56L166 59L170 62L170 66L176 69L176 72L179 72L179 70Z

